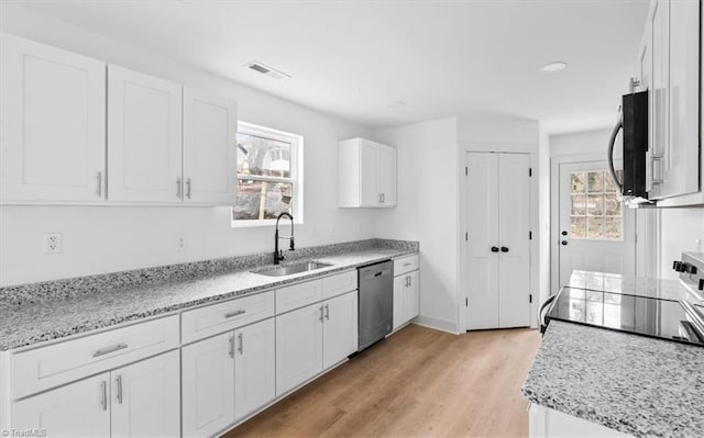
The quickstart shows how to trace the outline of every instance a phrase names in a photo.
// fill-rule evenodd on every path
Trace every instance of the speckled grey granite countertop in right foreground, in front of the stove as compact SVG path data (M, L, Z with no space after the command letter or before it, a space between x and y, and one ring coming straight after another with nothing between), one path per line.
M704 348L551 321L522 393L636 437L704 437Z

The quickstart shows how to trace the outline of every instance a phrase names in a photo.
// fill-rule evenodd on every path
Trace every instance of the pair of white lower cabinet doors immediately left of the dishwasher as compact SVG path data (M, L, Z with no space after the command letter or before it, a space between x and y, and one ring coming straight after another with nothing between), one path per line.
M285 394L358 349L358 293L276 317L276 395Z

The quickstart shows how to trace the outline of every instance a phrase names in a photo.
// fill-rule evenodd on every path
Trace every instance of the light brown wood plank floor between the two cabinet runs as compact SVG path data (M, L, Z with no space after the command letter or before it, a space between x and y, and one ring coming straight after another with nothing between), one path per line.
M537 330L454 336L409 325L227 435L525 437Z

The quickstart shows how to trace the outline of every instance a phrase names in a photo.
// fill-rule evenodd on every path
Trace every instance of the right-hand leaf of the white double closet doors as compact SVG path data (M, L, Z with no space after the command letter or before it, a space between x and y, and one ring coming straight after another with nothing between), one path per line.
M530 325L530 156L498 155L498 326Z

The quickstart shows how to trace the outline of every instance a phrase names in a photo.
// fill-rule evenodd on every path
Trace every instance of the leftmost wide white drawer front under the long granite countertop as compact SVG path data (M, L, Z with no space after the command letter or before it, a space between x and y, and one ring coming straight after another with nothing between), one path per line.
M13 398L178 347L178 315L12 356Z

